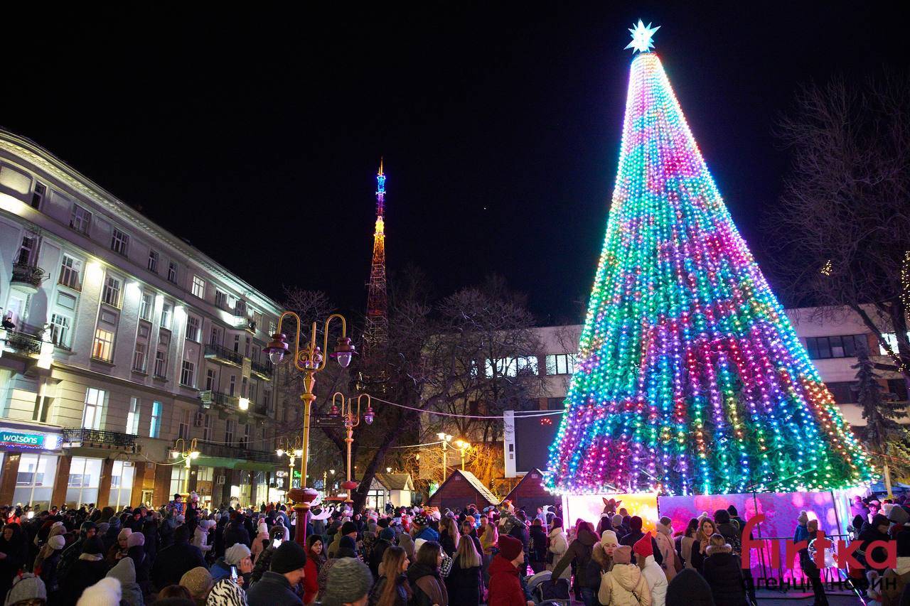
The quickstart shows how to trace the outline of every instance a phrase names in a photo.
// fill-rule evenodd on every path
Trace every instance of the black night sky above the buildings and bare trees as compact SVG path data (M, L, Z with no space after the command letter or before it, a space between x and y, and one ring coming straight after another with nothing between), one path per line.
M392 279L412 262L443 295L495 271L541 323L579 321L633 20L662 25L656 51L760 261L786 168L771 128L796 86L907 56L895 15L860 3L397 4L16 27L0 124L269 295L323 289L355 312L384 156Z

